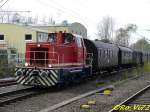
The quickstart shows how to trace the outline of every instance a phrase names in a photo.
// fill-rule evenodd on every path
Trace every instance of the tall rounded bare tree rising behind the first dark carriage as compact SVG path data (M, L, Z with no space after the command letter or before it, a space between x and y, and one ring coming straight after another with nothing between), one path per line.
M112 17L106 16L98 24L98 36L101 40L110 40L114 32L114 20Z

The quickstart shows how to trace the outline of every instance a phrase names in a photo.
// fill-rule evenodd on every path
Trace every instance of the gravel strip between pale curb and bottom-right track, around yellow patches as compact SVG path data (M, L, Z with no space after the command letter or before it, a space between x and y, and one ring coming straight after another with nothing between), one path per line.
M53 112L108 112L113 106L124 101L146 85L149 85L149 81L150 74L145 74L139 79L131 80L122 85L116 86L112 91L111 96L96 93L95 95L73 102ZM81 108L82 104L87 104L90 100L96 101L96 105L92 105L89 109Z

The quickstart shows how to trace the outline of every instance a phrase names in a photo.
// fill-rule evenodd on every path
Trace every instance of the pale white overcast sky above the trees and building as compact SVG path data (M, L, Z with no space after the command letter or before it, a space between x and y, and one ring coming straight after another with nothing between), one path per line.
M150 39L150 31L147 31L150 29L150 0L8 0L2 9L31 11L22 15L38 16L41 20L53 18L56 23L63 20L80 22L85 25L92 39L102 18L111 16L115 21L115 29L128 23L137 24L138 33ZM133 35L131 41L139 38Z

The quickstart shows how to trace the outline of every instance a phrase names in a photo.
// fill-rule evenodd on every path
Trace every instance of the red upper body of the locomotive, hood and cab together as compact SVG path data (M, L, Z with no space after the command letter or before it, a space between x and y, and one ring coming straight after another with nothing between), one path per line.
M83 66L85 58L83 38L71 33L50 33L47 42L26 44L25 66Z

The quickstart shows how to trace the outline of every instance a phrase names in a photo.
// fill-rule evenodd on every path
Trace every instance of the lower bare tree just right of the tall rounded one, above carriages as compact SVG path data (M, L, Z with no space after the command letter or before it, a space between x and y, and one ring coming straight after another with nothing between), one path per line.
M136 32L137 26L135 24L127 24L125 28L119 28L116 31L115 43L118 45L129 46L130 35Z

